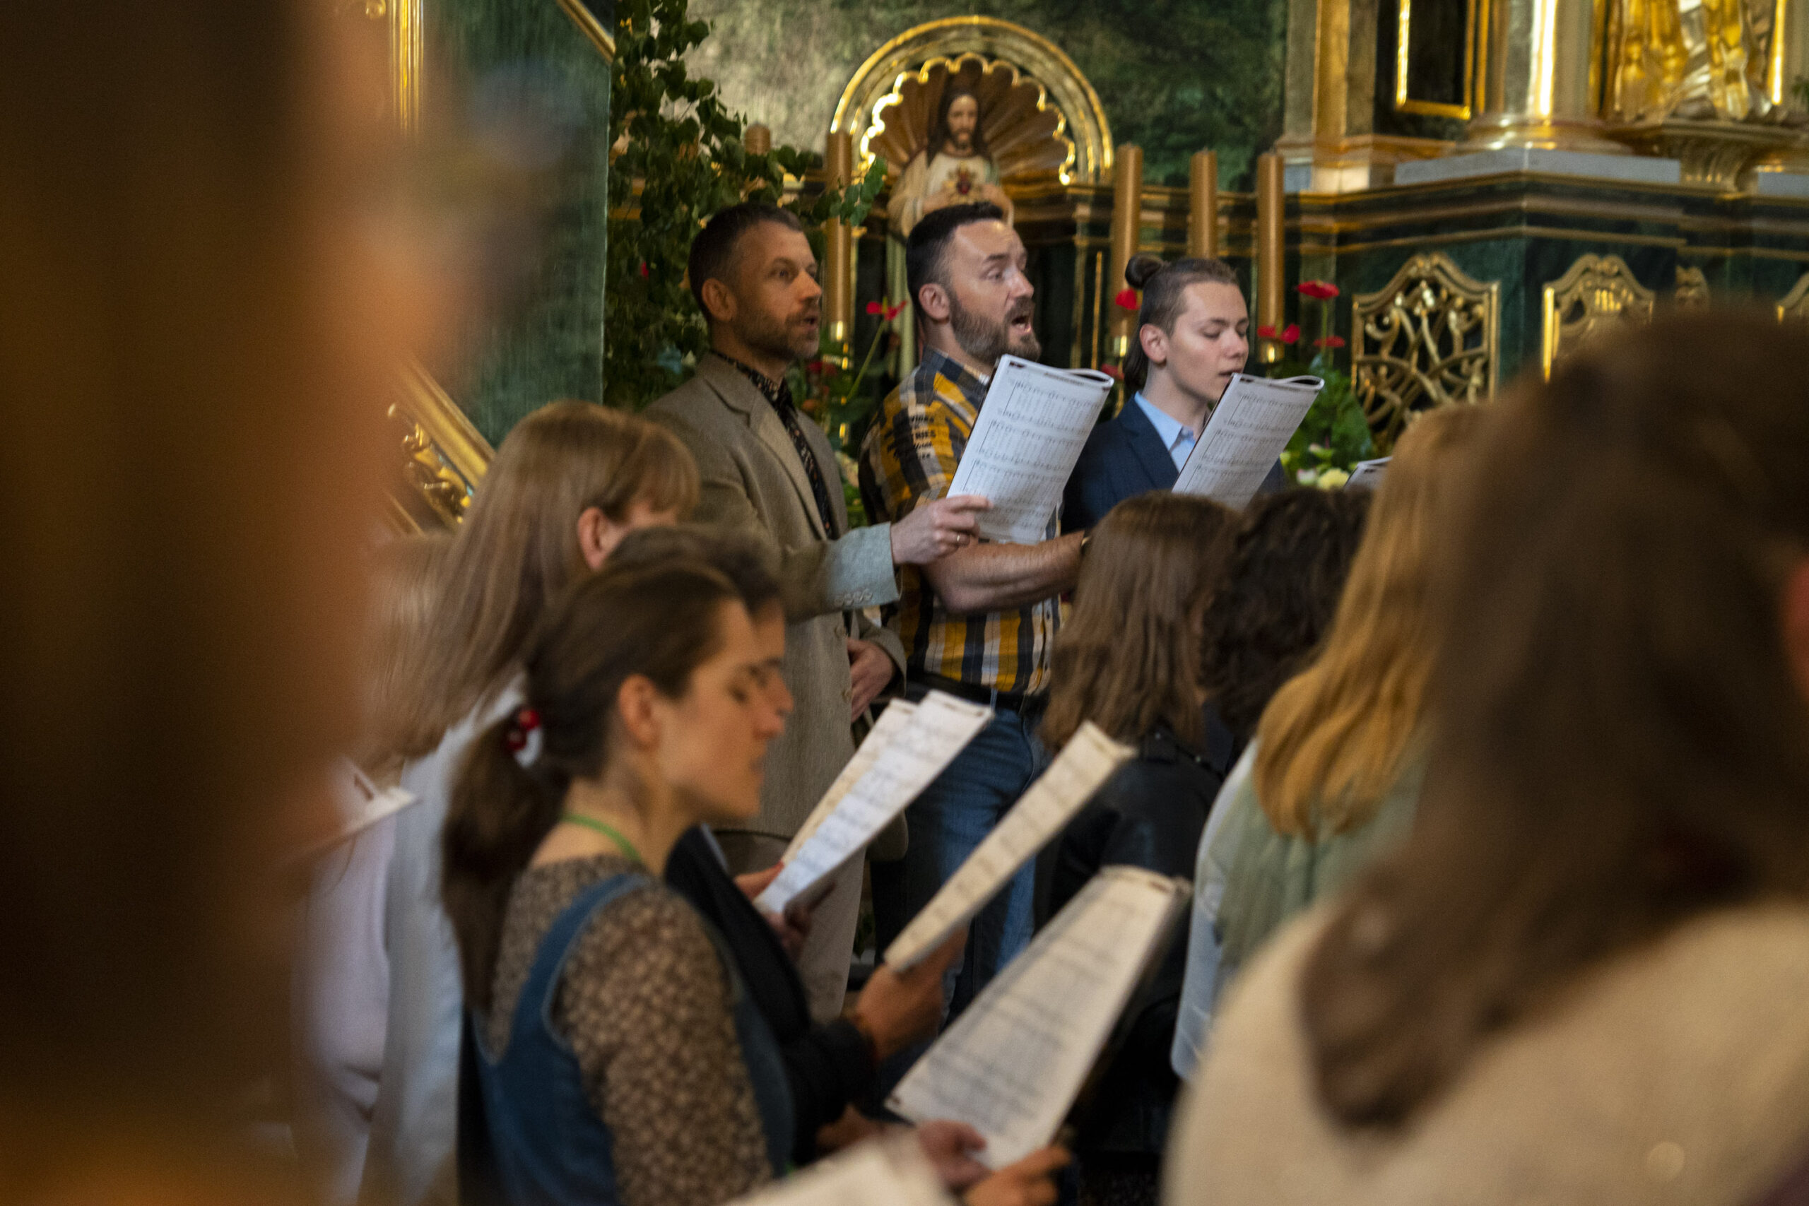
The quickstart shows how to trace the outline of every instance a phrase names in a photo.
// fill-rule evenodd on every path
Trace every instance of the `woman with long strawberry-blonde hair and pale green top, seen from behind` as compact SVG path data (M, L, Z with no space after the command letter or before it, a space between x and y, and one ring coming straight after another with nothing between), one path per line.
M1425 774L1435 519L1489 410L1442 407L1407 429L1351 561L1324 647L1257 721L1201 841L1174 1069L1190 1076L1212 1002L1284 920L1400 841Z

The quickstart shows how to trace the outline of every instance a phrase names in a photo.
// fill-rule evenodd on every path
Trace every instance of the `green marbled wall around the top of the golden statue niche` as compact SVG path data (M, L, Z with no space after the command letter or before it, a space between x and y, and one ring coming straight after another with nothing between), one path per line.
M467 0L474 2L474 0ZM942 16L997 16L1055 42L1143 148L1151 184L1187 184L1219 152L1219 186L1252 188L1281 134L1284 0L693 0L713 25L691 56L778 143L821 150L843 85L879 45Z

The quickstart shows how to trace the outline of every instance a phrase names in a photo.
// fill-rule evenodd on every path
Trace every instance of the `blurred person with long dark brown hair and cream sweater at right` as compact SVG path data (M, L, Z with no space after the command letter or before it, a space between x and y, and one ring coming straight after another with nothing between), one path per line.
M1415 830L1241 976L1167 1199L1757 1199L1809 1139L1809 331L1496 403Z

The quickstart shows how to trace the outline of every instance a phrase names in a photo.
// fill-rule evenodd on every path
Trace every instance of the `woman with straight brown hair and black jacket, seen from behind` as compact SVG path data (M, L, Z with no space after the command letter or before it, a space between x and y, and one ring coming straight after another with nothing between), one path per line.
M1055 848L1049 908L1058 913L1102 866L1192 872L1194 848L1230 768L1208 749L1199 691L1199 617L1219 584L1237 512L1185 494L1141 494L1093 532L1075 609L1055 638L1055 685L1042 740L1062 749L1093 721L1136 758L1069 821ZM1129 1036L1080 1126L1082 1202L1154 1202L1176 1079L1174 1011L1187 926L1169 937L1156 975L1131 1000Z

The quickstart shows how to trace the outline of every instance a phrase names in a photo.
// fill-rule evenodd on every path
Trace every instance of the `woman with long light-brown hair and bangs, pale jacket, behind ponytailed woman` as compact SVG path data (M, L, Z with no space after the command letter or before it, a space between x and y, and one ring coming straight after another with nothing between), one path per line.
M550 600L597 571L628 532L682 519L696 466L664 429L586 401L525 418L497 448L445 553L431 617L427 705L398 740L402 787L382 926L389 951L384 1065L362 1197L450 1201L459 975L440 908L440 830L472 736L519 707L521 655Z

